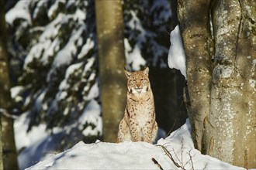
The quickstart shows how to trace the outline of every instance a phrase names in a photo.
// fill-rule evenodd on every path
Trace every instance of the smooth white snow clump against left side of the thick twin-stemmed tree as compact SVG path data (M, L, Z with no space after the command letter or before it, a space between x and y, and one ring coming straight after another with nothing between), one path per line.
M171 69L180 70L182 75L186 77L185 52L179 26L176 26L171 32L170 41L171 46L168 54L168 66Z

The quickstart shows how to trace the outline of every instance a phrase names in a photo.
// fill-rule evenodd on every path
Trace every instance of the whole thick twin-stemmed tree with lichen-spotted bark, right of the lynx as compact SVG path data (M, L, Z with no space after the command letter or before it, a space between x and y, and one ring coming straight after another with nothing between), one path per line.
M214 48L208 46L212 44L210 11ZM195 147L224 162L255 168L256 2L180 1L178 16L187 57ZM200 55L207 59L203 61Z

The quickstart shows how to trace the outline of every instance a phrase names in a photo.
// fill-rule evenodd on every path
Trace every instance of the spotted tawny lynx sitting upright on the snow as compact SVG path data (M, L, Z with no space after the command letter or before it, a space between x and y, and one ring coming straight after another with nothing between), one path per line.
M127 76L127 101L124 117L119 123L118 142L146 141L153 143L157 135L154 97L148 78L148 67Z

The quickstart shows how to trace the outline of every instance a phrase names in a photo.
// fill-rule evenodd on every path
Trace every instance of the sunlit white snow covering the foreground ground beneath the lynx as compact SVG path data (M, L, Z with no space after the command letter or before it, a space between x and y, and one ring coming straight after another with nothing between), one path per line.
M189 121L161 138L157 145L146 142L107 143L96 141L85 144L82 141L59 154L50 154L47 158L28 169L181 169L173 160L185 169L244 169L221 162L201 153L193 147ZM165 149L164 149L165 148Z

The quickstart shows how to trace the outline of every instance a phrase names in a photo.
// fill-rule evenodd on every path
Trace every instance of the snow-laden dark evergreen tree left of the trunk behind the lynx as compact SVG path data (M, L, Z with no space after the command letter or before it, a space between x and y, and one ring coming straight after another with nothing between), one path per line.
M14 32L12 62L20 59L22 65L13 70L20 72L13 73L22 86L19 110L29 113L28 131L43 122L49 130L63 128L71 138L63 135L60 148L84 135L87 142L102 135L92 6L93 1L19 1L6 15ZM26 15L13 17L17 8ZM86 114L88 109L95 114Z

